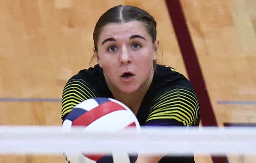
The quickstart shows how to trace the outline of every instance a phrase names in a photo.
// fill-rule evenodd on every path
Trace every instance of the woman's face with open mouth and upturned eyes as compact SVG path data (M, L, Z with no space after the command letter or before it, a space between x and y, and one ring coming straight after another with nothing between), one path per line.
M106 82L123 93L132 93L153 77L158 41L139 21L109 23L97 42L97 59Z

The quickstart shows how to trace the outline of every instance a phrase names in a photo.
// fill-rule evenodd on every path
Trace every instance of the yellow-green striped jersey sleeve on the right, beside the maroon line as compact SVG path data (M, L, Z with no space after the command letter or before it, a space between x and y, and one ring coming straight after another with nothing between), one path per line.
M153 101L146 125L192 126L199 122L199 103L192 89L164 91Z

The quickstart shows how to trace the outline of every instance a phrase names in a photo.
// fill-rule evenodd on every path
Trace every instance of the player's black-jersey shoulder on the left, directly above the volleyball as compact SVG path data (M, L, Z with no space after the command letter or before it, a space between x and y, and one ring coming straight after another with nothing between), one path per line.
M100 95L101 92L99 90L104 88L103 80L103 73L99 65L81 70L78 74L71 77L63 89L61 117L64 119L82 101Z

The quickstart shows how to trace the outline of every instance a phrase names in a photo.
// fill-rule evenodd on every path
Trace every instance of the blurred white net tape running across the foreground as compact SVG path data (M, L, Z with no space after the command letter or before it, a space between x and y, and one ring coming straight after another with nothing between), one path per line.
M0 154L139 152L256 154L256 127L142 128L115 132L60 126L0 126Z

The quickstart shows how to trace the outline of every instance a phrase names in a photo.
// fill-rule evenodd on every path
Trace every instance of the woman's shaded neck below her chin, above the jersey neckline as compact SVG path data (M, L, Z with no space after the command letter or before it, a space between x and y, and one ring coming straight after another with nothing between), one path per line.
M121 101L125 105L127 105L134 114L138 113L139 107L141 106L142 100L149 89L150 84L152 83L154 76L154 71L150 73L149 78L146 82L142 83L138 90L132 93L124 93L119 89L113 87L111 84L107 82L107 86L109 87L114 99Z

